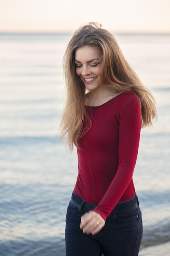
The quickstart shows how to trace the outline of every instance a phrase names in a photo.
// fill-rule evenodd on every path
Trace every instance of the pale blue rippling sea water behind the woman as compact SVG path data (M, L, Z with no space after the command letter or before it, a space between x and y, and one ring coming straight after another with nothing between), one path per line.
M0 256L64 256L76 149L59 140L62 57L71 34L0 34ZM143 247L170 241L170 35L115 35L157 101L134 183Z

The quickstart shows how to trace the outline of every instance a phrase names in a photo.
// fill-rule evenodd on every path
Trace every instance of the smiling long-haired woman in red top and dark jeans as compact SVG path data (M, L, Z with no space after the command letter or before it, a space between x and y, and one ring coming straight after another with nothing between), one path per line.
M141 127L155 100L101 25L80 27L64 55L61 137L77 147L78 176L66 215L66 256L137 256L142 238L132 180Z

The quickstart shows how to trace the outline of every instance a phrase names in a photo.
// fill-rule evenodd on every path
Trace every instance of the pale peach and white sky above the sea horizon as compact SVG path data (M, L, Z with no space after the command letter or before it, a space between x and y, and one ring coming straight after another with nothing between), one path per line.
M113 32L170 33L170 0L0 0L0 32L69 32L99 22Z

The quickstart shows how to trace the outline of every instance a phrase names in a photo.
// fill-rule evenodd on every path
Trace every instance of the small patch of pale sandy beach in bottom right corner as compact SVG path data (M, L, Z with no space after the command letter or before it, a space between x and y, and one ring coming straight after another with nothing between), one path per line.
M169 256L170 242L146 247L140 250L139 256Z

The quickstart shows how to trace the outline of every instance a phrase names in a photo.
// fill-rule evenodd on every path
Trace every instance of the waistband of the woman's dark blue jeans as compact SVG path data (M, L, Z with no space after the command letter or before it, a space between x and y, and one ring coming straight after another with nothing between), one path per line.
M97 207L97 204L90 204L85 202L82 198L80 198L75 192L73 191L71 196L71 203L74 204L79 210L81 211L90 211ZM133 210L135 210L139 206L139 200L137 195L129 200L126 200L124 202L118 203L113 211L111 212L112 215L118 214L118 213L129 213Z

